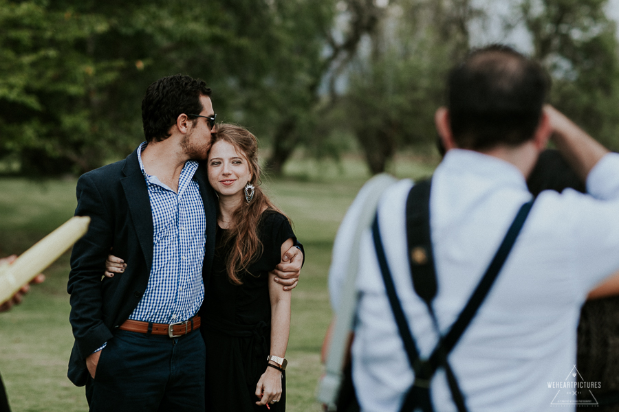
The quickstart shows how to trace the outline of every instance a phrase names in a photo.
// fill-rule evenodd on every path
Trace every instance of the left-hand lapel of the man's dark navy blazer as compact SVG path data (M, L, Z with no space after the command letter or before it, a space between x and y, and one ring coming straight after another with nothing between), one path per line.
M122 172L125 177L120 179L124 196L127 198L127 205L131 212L131 220L133 229L138 235L140 247L144 253L146 264L149 271L153 268L153 213L151 211L151 199L149 198L149 190L144 181L144 174L140 170L138 162L138 150L135 150L125 163Z

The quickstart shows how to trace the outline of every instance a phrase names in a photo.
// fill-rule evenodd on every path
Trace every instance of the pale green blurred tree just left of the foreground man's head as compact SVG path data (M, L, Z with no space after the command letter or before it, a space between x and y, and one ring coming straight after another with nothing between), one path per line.
M369 51L349 71L345 118L373 174L398 148L435 139L433 114L444 78L468 51L468 22L481 12L468 0L393 2L369 36Z

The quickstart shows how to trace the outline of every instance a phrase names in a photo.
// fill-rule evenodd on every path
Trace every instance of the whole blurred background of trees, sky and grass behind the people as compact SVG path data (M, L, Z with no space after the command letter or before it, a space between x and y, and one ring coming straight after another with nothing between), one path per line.
M448 69L512 45L547 68L550 103L619 150L618 19L619 0L0 0L0 256L72 216L76 176L140 144L151 82L202 78L217 119L261 141L266 190L305 244L288 409L319 411L337 227L371 174L431 174ZM0 315L14 411L86 409L65 377L68 260Z

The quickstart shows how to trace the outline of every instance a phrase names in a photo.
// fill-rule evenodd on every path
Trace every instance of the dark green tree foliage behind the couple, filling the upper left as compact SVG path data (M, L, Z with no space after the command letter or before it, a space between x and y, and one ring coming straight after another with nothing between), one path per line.
M154 80L203 78L219 118L274 133L304 113L330 0L0 0L0 159L84 172L141 139Z

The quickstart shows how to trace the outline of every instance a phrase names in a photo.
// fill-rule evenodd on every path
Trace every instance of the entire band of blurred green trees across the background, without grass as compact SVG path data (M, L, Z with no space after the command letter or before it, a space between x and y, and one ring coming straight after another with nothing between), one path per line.
M552 75L551 102L619 149L607 0L513 1ZM118 159L142 140L146 87L186 73L212 87L218 119L270 145L273 172L300 146L336 157L342 135L381 172L396 150L435 139L433 111L480 4L0 0L0 166L40 176Z

